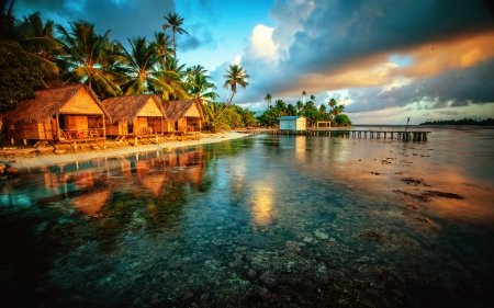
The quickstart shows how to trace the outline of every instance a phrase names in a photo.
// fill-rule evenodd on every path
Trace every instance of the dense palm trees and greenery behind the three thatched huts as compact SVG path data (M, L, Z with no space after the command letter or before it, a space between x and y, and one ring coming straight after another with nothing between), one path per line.
M232 65L226 70L224 87L232 96L221 103L215 102L220 95L204 67L180 64L177 34L189 33L178 13L164 16L164 32L150 39L127 38L124 46L111 39L110 30L99 34L83 20L63 26L43 21L40 12L19 20L14 3L7 0L1 7L0 114L34 98L36 90L82 82L100 99L154 93L165 101L199 100L206 128L213 130L256 123L252 112L231 105L237 88L248 85L245 68Z

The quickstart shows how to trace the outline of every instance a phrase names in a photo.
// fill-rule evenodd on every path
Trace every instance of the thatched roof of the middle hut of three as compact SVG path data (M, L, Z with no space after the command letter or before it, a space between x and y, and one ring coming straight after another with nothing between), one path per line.
M103 105L106 109L112 123L132 123L149 99L155 101L156 106L161 111L164 117L167 118L161 105L161 100L156 94L111 98L104 100Z

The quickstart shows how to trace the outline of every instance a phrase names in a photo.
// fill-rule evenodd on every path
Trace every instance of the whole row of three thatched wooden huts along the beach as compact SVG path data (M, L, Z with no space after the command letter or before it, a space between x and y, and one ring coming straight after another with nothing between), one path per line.
M100 101L88 85L77 83L36 91L5 118L12 144L40 145L183 135L201 130L203 114L197 100L161 101L148 94Z

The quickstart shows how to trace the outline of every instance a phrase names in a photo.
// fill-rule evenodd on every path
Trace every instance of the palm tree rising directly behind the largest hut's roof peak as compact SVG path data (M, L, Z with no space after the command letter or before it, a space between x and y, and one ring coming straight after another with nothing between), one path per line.
M57 25L61 34L68 69L65 83L86 82L90 89L93 83L110 95L117 95L119 88L111 80L110 75L102 69L102 62L111 57L122 57L112 54L113 46L109 39L110 30L104 35L94 32L94 25L87 21L70 22L70 32L61 25Z

